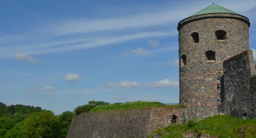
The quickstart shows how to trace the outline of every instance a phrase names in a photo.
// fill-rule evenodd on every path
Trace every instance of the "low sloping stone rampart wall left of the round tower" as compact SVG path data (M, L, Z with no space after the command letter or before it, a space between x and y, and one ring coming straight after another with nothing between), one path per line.
M180 117L182 108L147 108L120 111L102 111L75 115L68 138L141 138L158 128L171 124L171 115Z

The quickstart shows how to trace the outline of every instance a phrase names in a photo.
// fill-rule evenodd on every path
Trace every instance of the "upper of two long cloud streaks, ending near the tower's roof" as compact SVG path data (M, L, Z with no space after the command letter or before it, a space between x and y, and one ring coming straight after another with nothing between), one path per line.
M47 26L45 30L57 33L58 35L71 35L79 33L89 33L94 31L106 31L106 30L120 30L138 27L147 27L155 25L163 25L166 23L178 21L181 18L185 18L189 15L188 11L184 11L186 14L173 14L175 8L159 13L144 13L140 15L133 15L129 17L111 18L111 19L93 19L83 20L77 19L73 21L57 22L58 26ZM172 15L172 16L170 16Z

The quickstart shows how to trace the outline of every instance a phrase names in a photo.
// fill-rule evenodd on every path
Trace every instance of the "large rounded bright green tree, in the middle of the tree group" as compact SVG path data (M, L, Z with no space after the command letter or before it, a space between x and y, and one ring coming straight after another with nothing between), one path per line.
M57 137L57 117L52 111L35 112L24 120L22 137L24 138L51 138Z

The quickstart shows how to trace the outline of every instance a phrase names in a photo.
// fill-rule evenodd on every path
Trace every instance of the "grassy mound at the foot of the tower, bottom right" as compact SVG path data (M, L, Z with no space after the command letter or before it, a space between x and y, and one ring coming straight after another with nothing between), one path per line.
M218 115L205 118L188 127L188 124L170 125L150 134L158 134L164 138L183 137L184 133L209 134L213 137L256 137L256 120L233 118L227 115Z

